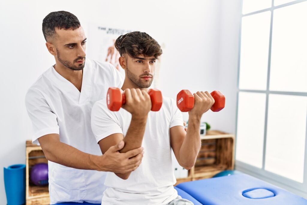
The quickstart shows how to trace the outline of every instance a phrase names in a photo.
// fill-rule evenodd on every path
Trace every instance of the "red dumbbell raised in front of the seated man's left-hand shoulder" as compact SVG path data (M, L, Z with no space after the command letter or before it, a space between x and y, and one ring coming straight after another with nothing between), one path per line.
M151 111L159 111L162 106L162 93L157 89L149 89L151 99ZM126 96L119 88L109 88L107 92L107 106L111 111L119 111L126 104Z

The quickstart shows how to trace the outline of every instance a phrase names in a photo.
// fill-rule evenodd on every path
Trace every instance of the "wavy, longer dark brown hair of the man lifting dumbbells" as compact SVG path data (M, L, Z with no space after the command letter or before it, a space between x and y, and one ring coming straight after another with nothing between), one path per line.
M145 32L139 31L119 36L115 41L115 48L121 56L127 53L130 57L144 55L145 57L154 56L158 59L162 54L158 42Z

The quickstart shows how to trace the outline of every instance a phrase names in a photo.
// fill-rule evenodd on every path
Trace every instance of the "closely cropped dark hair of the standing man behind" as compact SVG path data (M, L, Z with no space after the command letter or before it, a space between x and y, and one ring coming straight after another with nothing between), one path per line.
M80 26L80 22L74 14L68 11L54 11L43 20L43 34L47 41L47 38L54 37L56 29L75 30Z

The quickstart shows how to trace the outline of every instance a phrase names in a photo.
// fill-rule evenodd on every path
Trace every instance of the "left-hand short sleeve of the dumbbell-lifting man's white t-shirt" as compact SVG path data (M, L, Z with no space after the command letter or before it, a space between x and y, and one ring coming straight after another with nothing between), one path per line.
M102 101L105 100L97 101L91 111L91 128L97 143L112 134L122 134L118 118Z

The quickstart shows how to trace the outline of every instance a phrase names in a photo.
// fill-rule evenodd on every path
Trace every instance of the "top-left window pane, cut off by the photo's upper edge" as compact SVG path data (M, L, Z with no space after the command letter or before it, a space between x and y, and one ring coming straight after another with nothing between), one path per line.
M242 14L267 9L272 6L272 0L243 0Z

